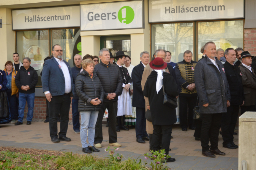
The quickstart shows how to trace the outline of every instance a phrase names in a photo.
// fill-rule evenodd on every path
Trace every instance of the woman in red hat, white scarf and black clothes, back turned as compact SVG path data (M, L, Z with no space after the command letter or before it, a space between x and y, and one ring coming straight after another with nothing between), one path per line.
M162 69L167 67L167 63L162 58L157 57L150 62L153 71L148 76L143 90L143 95L148 98L150 103L150 111L153 124L152 149L154 151L159 148L159 138L162 133L161 149L165 149L165 154L169 154L169 146L172 134L172 124L177 121L175 108L170 108L163 104L163 88L170 97L179 95L177 84L170 73L163 72ZM174 158L168 158L167 162L174 162Z

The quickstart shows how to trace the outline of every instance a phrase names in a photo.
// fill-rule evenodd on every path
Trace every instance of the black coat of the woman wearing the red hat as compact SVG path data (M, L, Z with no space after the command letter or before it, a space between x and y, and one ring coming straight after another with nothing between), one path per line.
M148 98L153 125L172 125L177 121L175 108L163 104L163 88L156 92L157 72L152 71L144 86L143 95ZM176 97L179 94L177 84L170 73L163 72L165 92Z

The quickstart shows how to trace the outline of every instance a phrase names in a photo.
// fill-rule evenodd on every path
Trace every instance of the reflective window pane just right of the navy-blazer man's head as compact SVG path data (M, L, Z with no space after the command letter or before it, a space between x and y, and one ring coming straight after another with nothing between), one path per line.
M52 45L59 44L62 47L62 58L69 62L71 67L73 67L73 56L79 53L81 55L81 45L77 46L80 42L79 28L52 30Z

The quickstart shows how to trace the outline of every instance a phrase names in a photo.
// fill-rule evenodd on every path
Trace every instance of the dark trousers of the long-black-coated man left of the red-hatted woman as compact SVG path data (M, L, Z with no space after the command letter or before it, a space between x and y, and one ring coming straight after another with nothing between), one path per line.
M146 132L146 110L145 108L136 107L136 138L148 137Z

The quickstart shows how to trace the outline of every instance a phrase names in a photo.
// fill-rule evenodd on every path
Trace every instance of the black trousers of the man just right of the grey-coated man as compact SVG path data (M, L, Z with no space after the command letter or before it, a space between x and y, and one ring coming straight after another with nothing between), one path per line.
M227 145L234 140L233 135L237 124L238 112L239 105L230 105L227 107L227 113L222 114L221 132L223 145Z

